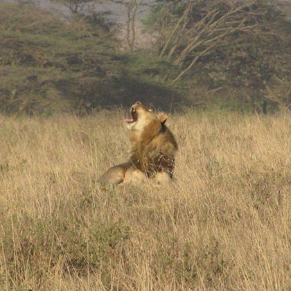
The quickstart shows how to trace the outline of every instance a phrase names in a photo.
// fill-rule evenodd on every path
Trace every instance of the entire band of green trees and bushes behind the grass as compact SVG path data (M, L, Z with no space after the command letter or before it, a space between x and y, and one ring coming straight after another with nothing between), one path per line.
M170 110L287 111L290 19L281 1L156 1L143 19L150 44L127 39L120 50L114 24L96 13L65 19L1 3L0 110L87 114L141 100Z

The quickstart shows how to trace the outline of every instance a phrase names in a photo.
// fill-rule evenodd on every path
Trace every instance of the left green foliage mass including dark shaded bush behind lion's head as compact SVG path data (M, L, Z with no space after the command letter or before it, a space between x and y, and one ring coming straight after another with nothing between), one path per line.
M68 21L47 10L1 4L2 112L87 114L136 100L158 107L179 100L164 80L170 64L118 52L116 39L91 20L75 15Z

